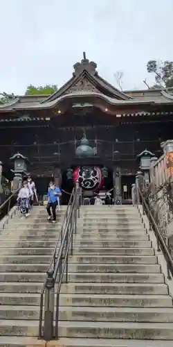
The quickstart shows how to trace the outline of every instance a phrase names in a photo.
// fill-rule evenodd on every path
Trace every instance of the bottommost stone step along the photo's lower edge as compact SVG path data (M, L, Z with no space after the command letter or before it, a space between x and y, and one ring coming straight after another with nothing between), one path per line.
M66 338L45 343L36 337L0 336L0 347L172 347L172 341Z

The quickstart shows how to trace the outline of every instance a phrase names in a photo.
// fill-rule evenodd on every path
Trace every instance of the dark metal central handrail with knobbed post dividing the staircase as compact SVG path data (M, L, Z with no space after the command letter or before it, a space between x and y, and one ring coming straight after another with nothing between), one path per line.
M64 273L66 274L65 282L68 282L69 255L73 255L73 234L76 234L77 218L80 217L80 198L80 187L77 187L76 189L73 189L71 194L69 205L66 209L64 223L57 239L53 257L47 271L46 280L42 287L39 311L39 339L44 338L46 341L50 341L53 338L58 339L60 289ZM58 248L58 246L60 246L60 248ZM57 284L56 303L55 284ZM54 312L55 334L53 327Z

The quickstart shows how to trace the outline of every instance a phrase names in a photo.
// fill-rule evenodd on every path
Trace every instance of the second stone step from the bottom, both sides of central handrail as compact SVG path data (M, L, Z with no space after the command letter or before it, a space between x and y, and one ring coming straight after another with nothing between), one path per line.
M1 320L0 335L37 337L38 321ZM59 321L59 337L173 340L173 323ZM58 341L60 344L60 341ZM140 345L139 345L140 346ZM163 343L163 346L164 343Z

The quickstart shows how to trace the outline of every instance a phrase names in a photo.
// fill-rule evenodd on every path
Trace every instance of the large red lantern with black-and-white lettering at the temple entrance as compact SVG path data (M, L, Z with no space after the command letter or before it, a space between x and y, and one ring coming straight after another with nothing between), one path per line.
M77 167L73 171L73 182L80 184L84 190L99 191L104 183L100 167Z

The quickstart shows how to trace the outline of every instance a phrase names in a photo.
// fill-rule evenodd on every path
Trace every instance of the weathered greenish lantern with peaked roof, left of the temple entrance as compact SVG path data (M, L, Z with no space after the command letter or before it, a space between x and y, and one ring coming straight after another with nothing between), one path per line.
M12 170L15 176L13 178L12 191L14 192L21 187L22 177L27 174L27 163L28 159L19 152L13 155L10 160L14 162L15 169Z

